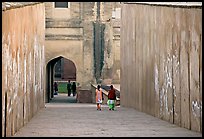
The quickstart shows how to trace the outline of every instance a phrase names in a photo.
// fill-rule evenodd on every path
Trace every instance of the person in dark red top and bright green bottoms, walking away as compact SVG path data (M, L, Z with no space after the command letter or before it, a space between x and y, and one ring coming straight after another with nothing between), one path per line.
M116 100L116 93L113 85L110 86L110 90L108 92L108 106L109 110L114 110L115 108L115 100Z

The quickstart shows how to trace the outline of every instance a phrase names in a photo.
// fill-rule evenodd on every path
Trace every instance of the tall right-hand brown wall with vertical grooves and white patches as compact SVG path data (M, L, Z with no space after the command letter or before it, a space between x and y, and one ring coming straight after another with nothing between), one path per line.
M132 3L121 17L121 105L202 132L202 7Z

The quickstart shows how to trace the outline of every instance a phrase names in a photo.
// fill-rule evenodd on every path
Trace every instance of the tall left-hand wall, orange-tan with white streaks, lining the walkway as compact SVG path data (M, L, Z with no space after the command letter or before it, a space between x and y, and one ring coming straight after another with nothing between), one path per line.
M45 95L44 4L11 7L2 12L2 137L26 125Z

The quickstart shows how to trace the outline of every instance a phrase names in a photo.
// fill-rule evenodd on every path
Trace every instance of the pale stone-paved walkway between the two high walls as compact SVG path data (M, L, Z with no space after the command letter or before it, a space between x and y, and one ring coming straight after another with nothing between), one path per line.
M74 102L67 94L55 96L14 137L202 137L133 108L103 105L97 111L95 104Z

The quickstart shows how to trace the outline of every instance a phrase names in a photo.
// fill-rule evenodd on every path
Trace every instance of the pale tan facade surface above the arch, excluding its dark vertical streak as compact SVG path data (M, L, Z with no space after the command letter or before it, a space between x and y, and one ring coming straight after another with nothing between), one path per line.
M54 2L45 2L46 9L46 63L62 56L74 62L77 70L76 80L83 89L90 89L90 82L95 83L94 75L94 25L97 16L100 23L105 25L105 51L104 56L111 57L101 61L104 64L101 75L102 80L111 79L112 82L120 81L120 65L113 64L120 60L119 29L113 33L115 19L112 12L120 4L115 2L100 2L100 15L97 12L97 2L70 2L70 8L55 9ZM63 11L64 10L64 11ZM64 14L66 11L66 15ZM119 20L117 20L118 23ZM110 33L110 34L109 34ZM116 35L115 35L116 34ZM111 53L111 54L110 54ZM115 67L114 67L115 66ZM116 67L117 66L117 67ZM110 72L111 71L111 72ZM115 79L114 79L115 78Z

